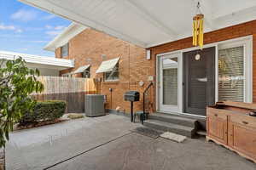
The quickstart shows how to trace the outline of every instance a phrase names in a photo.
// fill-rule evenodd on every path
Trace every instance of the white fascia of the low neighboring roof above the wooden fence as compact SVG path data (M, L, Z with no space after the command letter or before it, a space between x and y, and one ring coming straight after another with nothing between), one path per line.
M0 51L0 59L13 60L17 57L25 59L27 63L39 64L39 65L53 65L65 68L73 68L74 63L72 59L57 59L55 57L46 57L32 54L19 54L8 51Z

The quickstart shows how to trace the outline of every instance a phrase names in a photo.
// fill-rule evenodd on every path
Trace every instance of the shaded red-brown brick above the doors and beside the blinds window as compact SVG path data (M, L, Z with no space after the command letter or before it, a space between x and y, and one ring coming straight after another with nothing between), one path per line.
M256 20L243 23L237 26L230 26L218 31L208 32L204 35L204 43L220 42L237 37L245 37L253 35L253 68L256 66ZM191 48L192 37L184 38L175 42L168 42L160 46L156 46L151 49L152 58L155 58L156 54L162 54L180 50L183 48ZM256 102L256 70L253 69L253 102Z

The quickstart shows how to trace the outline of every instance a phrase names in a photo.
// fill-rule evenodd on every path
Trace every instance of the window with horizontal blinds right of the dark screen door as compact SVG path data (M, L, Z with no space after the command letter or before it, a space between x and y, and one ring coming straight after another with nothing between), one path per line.
M218 50L218 100L244 101L244 48Z

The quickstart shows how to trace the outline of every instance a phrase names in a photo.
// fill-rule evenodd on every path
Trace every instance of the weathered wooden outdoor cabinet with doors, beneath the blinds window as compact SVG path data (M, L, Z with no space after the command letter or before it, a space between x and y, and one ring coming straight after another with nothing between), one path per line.
M256 104L218 102L207 107L207 140L256 162Z

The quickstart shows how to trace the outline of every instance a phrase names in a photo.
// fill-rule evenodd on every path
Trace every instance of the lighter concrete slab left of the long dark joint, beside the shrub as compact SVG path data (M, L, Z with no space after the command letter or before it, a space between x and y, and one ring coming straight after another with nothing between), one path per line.
M137 126L124 116L108 115L15 131L6 146L7 169L43 169Z

